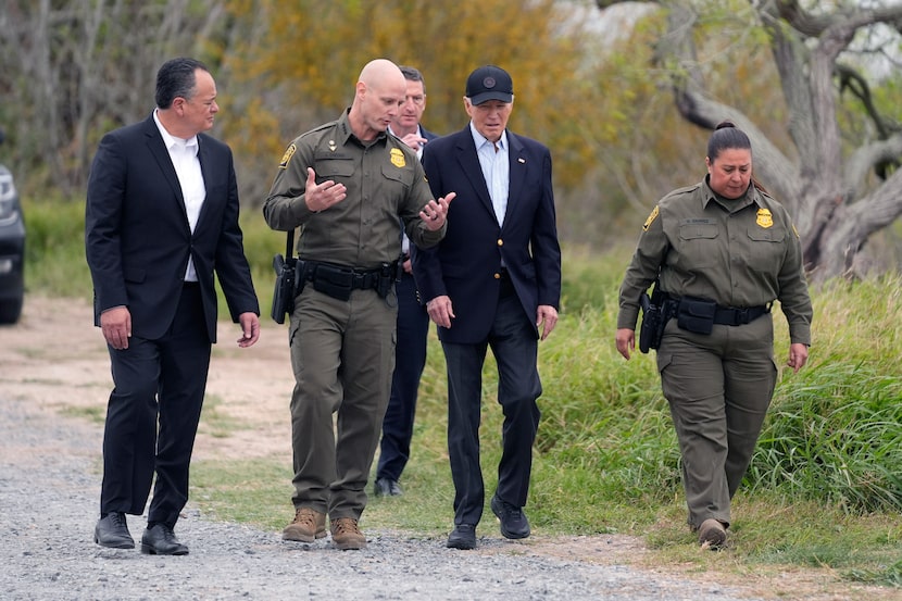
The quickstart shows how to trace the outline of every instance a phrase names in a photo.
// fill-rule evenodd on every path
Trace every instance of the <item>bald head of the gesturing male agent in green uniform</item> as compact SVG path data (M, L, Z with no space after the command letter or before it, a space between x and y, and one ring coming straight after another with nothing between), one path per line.
M408 83L398 65L386 59L366 63L348 113L354 135L363 141L376 139L401 110L406 93Z

